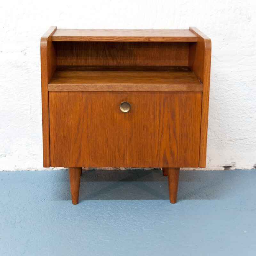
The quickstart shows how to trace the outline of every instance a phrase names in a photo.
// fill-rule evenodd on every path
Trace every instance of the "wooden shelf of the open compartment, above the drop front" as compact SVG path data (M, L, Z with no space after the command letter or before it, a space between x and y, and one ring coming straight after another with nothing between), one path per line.
M72 67L56 70L49 91L202 92L203 86L187 67ZM140 71L138 71L138 69ZM108 70L108 71L107 71ZM112 71L115 70L115 71Z

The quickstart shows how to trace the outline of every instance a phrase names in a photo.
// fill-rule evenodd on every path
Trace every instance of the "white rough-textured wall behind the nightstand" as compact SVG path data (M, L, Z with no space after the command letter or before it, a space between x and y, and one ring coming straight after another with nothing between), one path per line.
M1 1L0 170L43 169L40 37L58 28L187 29L212 39L207 169L256 164L256 1Z

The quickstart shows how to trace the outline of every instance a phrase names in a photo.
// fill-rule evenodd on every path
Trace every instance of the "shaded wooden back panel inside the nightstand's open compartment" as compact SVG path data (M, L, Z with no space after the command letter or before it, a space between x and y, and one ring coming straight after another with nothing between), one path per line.
M58 66L188 66L188 42L54 42Z

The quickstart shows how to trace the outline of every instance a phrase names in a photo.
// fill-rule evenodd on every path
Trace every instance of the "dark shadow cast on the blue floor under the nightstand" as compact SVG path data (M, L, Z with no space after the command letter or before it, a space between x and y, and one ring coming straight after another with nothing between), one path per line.
M54 177L64 184L54 190L52 199L71 200L68 171L59 174ZM226 197L234 182L235 171L180 171L177 202ZM83 171L79 202L84 200L169 200L167 177L160 169Z

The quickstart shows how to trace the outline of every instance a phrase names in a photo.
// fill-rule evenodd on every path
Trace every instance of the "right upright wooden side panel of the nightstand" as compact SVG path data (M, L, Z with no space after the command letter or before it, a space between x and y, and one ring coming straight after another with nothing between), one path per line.
M189 28L196 36L197 43L191 43L189 47L189 67L203 83L202 95L202 119L200 138L200 161L199 167L205 167L207 147L208 108L210 91L211 69L211 39L205 36L197 28Z

